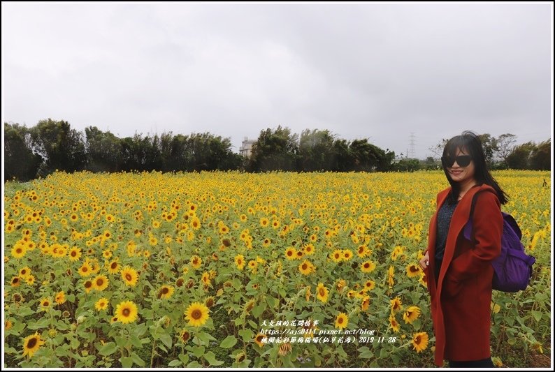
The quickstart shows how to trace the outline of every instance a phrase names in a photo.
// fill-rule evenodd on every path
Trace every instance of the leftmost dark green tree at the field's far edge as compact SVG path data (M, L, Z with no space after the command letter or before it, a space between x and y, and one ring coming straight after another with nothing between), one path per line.
M4 181L28 181L36 177L43 158L31 151L31 134L26 126L4 123Z

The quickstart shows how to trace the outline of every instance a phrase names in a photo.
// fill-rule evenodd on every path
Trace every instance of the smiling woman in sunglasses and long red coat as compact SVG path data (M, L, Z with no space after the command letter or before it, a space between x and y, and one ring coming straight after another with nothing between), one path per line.
M489 351L493 267L501 251L507 195L489 174L480 138L470 131L443 149L442 168L451 187L438 194L428 248L420 266L428 277L435 333L435 364L493 367ZM474 199L474 202L473 202ZM463 227L473 209L473 239Z

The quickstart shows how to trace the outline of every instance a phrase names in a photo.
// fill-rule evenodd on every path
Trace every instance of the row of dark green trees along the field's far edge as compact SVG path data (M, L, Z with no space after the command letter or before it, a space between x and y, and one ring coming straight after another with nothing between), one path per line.
M480 137L491 168L551 169L551 140L513 146L516 136L511 134ZM446 141L431 148L438 158ZM394 151L371 144L367 138L348 141L317 129L307 129L298 135L287 127L268 128L260 132L248 157L231 148L229 138L211 133L145 136L136 133L133 137L119 138L96 126L89 126L82 133L64 120L45 119L31 128L4 123L4 181L27 181L55 170L389 172L440 166L438 158L429 157L426 161L402 158Z

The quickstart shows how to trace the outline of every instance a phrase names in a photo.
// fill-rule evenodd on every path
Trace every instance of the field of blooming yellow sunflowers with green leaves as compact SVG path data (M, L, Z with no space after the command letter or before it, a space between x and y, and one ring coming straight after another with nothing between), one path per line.
M551 350L549 172L493 172L537 259L491 355ZM549 181L548 181L549 184ZM433 366L445 174L56 172L4 193L4 366Z

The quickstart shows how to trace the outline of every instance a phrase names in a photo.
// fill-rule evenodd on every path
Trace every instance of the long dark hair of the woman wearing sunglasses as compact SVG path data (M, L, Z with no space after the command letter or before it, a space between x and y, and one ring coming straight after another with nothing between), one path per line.
M478 137L475 133L471 131L464 131L461 135L456 135L452 137L451 140L445 144L445 148L443 149L443 156L455 156L456 149L465 149L468 151L468 155L472 158L474 162L474 178L476 179L478 184L486 184L493 189L495 189L497 193L497 197L499 198L499 202L501 204L505 204L509 200L509 196L505 193L505 191L501 190L497 181L491 177L489 170L486 165L486 155L484 154L484 148L482 147L482 141L480 137ZM456 200L455 195L459 195L461 188L458 182L455 182L449 176L449 171L442 163L443 172L445 172L445 176L447 177L447 181L451 184L452 200Z

